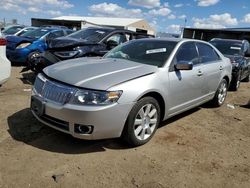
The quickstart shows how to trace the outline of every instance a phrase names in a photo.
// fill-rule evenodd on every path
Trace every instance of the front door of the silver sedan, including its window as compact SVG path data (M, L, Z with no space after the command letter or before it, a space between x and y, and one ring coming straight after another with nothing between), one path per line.
M175 70L173 67L180 62L192 62L192 70ZM170 115L196 105L204 95L203 67L194 42L186 42L179 47L169 70L168 101Z

